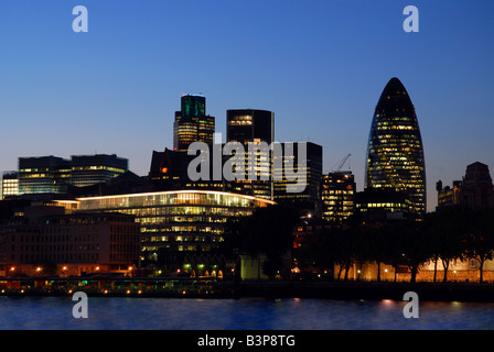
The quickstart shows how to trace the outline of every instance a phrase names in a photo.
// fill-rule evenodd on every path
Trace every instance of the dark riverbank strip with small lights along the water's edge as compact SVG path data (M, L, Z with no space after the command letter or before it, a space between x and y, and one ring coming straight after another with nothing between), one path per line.
M155 298L319 298L402 300L415 292L422 301L494 302L493 284L406 282L240 282L215 278L0 278L3 296L72 296Z

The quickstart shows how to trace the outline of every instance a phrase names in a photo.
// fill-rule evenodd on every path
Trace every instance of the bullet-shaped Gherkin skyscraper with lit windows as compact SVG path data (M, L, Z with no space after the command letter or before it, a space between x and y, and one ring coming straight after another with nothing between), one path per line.
M398 78L386 85L368 138L365 188L406 191L410 213L426 212L426 163L417 114Z

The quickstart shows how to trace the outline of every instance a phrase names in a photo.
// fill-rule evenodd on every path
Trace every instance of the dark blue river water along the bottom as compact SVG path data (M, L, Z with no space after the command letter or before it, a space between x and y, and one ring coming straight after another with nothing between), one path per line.
M72 297L0 297L2 330L491 330L494 304L327 299L88 297L76 319Z

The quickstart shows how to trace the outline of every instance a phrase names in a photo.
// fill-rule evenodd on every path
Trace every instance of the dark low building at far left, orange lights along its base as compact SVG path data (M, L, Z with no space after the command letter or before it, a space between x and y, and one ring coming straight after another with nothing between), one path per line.
M140 256L140 226L122 213L73 213L28 207L0 226L0 265L7 276L131 274Z

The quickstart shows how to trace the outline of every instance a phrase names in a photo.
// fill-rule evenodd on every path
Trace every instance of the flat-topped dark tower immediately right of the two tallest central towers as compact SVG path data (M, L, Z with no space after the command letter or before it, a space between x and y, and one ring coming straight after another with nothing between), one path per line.
M322 146L312 142L279 143L273 160L273 200L310 213L318 212L322 176ZM288 146L292 151L288 150ZM304 155L299 152L305 150ZM281 157L281 161L278 158ZM301 160L304 157L305 160ZM290 176L290 174L293 175ZM294 178L294 179L293 179Z

